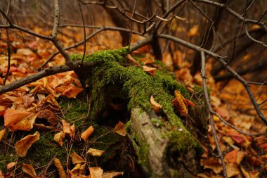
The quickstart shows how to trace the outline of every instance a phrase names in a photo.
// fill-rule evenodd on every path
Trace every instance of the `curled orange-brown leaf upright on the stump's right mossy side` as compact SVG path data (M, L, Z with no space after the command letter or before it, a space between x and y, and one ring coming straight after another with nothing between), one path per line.
M180 115L186 116L188 114L188 108L185 106L185 98L180 91L174 91L175 99L172 101L172 104L176 107L176 110Z

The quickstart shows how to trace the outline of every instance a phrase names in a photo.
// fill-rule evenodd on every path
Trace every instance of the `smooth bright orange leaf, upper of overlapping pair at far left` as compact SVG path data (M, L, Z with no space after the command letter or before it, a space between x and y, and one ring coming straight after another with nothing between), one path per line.
M8 127L10 125L14 125L30 114L30 112L27 112L25 110L15 110L8 108L4 113L4 126Z

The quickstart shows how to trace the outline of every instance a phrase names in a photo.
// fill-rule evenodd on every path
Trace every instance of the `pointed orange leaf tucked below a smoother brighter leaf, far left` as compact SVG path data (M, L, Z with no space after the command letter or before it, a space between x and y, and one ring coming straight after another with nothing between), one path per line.
M12 131L16 131L16 130L30 130L32 129L34 122L36 120L38 113L32 113L30 115L28 115L27 117L23 118L22 120L20 120L20 122L15 123L14 125L11 125L9 127L9 129L11 129Z

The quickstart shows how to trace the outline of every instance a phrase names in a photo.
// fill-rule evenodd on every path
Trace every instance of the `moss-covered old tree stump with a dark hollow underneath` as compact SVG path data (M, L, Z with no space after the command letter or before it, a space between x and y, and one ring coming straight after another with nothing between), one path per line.
M205 130L207 115L200 88L196 87L194 96L197 97L192 98L164 65L152 64L157 68L152 76L144 72L144 64L138 58L140 65L129 63L128 53L127 48L99 51L84 59L95 63L92 68L81 67L75 71L89 92L89 119L107 123L127 121L129 139L149 177L191 177L197 170L197 153L202 151L195 127ZM82 56L72 56L74 61L81 59ZM175 90L195 102L190 119L174 110L171 101ZM157 115L152 110L150 96L162 106Z

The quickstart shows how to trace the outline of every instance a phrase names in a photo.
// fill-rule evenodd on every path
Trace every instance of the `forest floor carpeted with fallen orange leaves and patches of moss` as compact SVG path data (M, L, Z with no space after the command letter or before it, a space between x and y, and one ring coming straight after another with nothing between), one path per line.
M41 34L51 34L50 30L41 27L34 27L33 30ZM79 42L81 35L80 30L69 28L64 34L58 34L58 37L64 46L70 46ZM134 36L133 41L137 38ZM8 67L7 44L6 37L0 40L0 84L3 84L3 75ZM117 49L121 47L118 46L120 40L119 33L105 32L87 43L86 53ZM6 84L34 74L56 51L51 43L19 32L11 33L10 41L13 53ZM82 54L83 46L69 52ZM150 57L149 53L145 54ZM174 59L171 59L169 53L164 53L163 57L163 62L167 65L176 63L179 66L180 69L174 71L178 82L185 84L188 89L194 89L195 84L202 85L202 78L200 73L190 75L190 63L185 60L185 52L178 50L174 51ZM47 66L63 64L63 57L58 55ZM207 77L214 110L244 132L266 132L266 126L256 117L242 84L235 80L215 83L210 75L212 66L211 63L207 65ZM79 97L82 90L77 75L74 72L65 72L0 95L0 177L3 174L6 177L55 177L57 172L64 174L64 170L60 172L60 163L55 158L59 158L62 165L67 167L65 172L72 175L88 175L90 172L94 177L101 177L104 172L103 177L115 177L124 172L125 177L141 177L138 160L124 134L125 125L120 125L122 129L115 128L115 125L99 127L93 121L85 120L89 106L86 105L86 98L81 100ZM266 86L252 86L252 90L259 103L266 100ZM267 115L267 102L261 108L264 115ZM12 121L19 120L20 117L28 119L22 123ZM31 123L36 118L38 122ZM6 120L13 122L8 128L4 126L7 125ZM215 116L214 120L228 177L267 177L266 134L245 136L224 125L219 117ZM29 129L30 131L18 131ZM27 137L29 134L31 137ZM39 140L31 147L29 141L23 143L22 138ZM210 126L202 146L204 153L200 156L200 172L195 177L222 177L223 170L219 158L216 157ZM26 157L18 156L26 153ZM58 170L54 162L59 167Z

